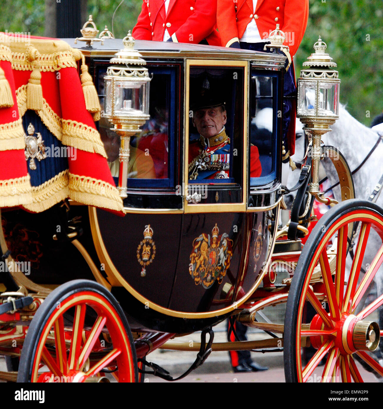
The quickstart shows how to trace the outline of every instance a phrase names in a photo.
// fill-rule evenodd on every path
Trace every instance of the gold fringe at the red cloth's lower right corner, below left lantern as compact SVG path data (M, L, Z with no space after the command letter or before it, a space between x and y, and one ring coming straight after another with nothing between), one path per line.
M69 196L84 205L124 211L117 188L103 180L69 173Z

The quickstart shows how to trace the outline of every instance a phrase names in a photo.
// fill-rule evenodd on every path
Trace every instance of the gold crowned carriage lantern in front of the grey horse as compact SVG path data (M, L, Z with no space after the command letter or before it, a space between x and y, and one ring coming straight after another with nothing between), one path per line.
M306 133L312 136L312 166L309 192L319 193L320 141L324 133L331 131L330 125L339 118L338 71L336 63L327 54L327 45L320 36L314 44L315 53L303 63L298 79L297 117L304 124ZM305 68L307 67L307 68Z

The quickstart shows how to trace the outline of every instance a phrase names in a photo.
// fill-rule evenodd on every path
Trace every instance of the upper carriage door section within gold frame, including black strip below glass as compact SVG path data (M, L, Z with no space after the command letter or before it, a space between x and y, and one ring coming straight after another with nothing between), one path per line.
M209 63L190 61L186 85L189 121L185 177L190 211L197 203L244 203L247 63ZM194 193L201 196L198 202L193 201Z

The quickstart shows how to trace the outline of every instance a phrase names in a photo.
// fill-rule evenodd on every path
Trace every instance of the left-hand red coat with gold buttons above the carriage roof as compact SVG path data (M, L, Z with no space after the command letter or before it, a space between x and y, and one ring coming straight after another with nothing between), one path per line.
M216 14L211 0L143 0L132 34L138 40L221 45Z

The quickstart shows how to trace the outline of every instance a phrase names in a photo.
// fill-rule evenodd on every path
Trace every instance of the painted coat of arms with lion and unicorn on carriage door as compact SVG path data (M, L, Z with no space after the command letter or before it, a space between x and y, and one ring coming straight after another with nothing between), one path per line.
M194 279L195 285L201 284L209 288L215 280L222 283L230 267L233 255L233 241L229 235L219 235L217 223L210 234L202 233L193 241L193 251L190 254L189 273Z

